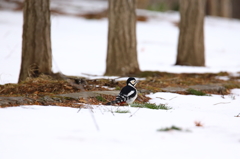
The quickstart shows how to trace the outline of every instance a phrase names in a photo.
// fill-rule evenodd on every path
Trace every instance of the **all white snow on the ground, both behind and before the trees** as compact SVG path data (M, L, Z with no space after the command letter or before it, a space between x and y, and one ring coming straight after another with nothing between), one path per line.
M174 66L178 28L173 22L179 20L179 14L144 10L138 13L150 17L147 22L137 23L141 70L227 71L238 75L239 20L206 17L206 67L184 67ZM0 84L16 83L21 59L22 13L1 10L0 15ZM107 19L52 16L53 70L102 77L107 26ZM166 104L172 109L130 108L133 114L130 117L130 113L112 113L128 108L101 105L80 111L58 106L1 108L0 158L240 158L240 122L235 117L240 113L240 89L233 89L224 97L167 92L149 97L151 103ZM203 126L197 127L195 122ZM186 131L157 131L173 125Z

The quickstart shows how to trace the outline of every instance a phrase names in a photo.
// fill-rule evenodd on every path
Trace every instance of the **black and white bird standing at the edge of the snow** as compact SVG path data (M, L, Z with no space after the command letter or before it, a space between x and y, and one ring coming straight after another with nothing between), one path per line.
M135 78L129 77L126 82L127 85L122 88L116 100L108 102L106 105L127 103L130 106L137 98L137 89L135 88L137 83L138 81Z

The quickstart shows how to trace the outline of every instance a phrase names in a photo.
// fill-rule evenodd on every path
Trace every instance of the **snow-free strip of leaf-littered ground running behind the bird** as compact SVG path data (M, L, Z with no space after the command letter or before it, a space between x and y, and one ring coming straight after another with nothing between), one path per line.
M148 102L150 98L146 95L155 92L224 96L230 93L230 89L240 88L240 77L226 72L175 74L145 71L134 76L144 78L137 85L139 96L136 103ZM41 75L38 78L28 78L19 84L0 85L0 107L99 105L114 100L124 85L125 81L117 79L86 79L58 73L52 76Z

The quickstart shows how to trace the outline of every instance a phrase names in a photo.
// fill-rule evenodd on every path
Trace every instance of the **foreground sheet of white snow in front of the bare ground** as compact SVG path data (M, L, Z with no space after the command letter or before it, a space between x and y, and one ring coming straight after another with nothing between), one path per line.
M149 95L170 110L21 106L0 109L0 157L232 158L240 157L240 90L222 98L174 93ZM233 98L235 96L235 98ZM161 97L158 98L158 97ZM164 99L163 99L164 98ZM127 109L127 108L121 108ZM96 125L95 125L96 122ZM196 127L201 122L203 127ZM158 132L181 127L188 131Z

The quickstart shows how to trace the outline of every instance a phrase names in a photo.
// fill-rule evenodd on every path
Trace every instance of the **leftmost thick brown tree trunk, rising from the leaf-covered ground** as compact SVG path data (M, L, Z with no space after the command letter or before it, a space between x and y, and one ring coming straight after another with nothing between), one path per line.
M22 63L18 82L52 73L49 0L25 0Z

